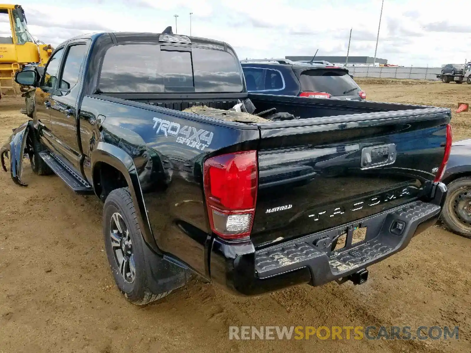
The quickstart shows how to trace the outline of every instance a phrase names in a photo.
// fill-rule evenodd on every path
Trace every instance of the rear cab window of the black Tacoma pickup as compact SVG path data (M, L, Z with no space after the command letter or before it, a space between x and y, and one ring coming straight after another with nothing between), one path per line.
M105 93L241 92L241 72L230 53L152 44L106 51L98 84Z

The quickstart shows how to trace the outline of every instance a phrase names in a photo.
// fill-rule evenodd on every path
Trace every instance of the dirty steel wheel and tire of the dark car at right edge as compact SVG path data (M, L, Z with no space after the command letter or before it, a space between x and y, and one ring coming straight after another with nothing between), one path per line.
M471 178L456 179L447 187L441 218L453 233L471 239Z

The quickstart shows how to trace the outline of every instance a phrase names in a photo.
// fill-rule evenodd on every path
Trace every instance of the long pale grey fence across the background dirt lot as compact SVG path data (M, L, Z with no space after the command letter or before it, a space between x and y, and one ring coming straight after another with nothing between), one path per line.
M437 74L441 67L375 67L375 66L348 66L353 77L376 77L389 79L411 80L439 80Z

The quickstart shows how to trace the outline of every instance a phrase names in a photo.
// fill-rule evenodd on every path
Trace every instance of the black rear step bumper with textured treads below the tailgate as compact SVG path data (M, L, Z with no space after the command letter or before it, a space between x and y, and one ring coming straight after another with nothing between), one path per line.
M345 278L406 248L414 235L434 225L447 188L433 184L426 201L414 201L365 219L255 250L252 242L211 244L211 279L240 295L258 295L300 283L313 286ZM398 225L402 229L398 230ZM367 227L365 241L352 245L355 227ZM346 246L330 244L347 233Z

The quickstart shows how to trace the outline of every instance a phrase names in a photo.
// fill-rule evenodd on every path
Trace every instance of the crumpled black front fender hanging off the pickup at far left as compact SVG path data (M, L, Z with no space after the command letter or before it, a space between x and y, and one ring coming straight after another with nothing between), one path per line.
M29 138L29 131L32 128L32 121L26 121L18 128L13 129L13 134L8 139L8 142L0 148L0 162L4 171L7 171L5 158L10 158L10 174L13 181L21 186L27 184L21 181L21 171L23 167L24 153L30 153L30 146L27 145Z

